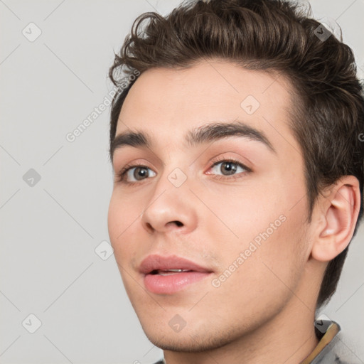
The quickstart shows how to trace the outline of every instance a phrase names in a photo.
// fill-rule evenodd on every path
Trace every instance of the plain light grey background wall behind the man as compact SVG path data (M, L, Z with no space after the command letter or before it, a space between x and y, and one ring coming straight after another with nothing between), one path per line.
M111 90L113 50L134 18L144 11L166 14L177 4L0 0L0 363L161 358L141 330L114 256L95 253L109 242L109 109L75 141L65 136ZM338 21L364 77L364 0L313 0L311 6L322 21ZM31 22L42 32L33 42L22 34L24 28L36 34ZM30 168L41 176L34 186L23 181ZM363 238L361 228L323 313L341 323L344 342L364 363ZM34 333L26 329L36 324L30 314L41 321Z

